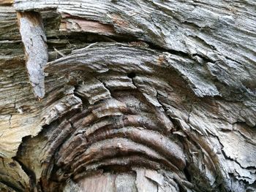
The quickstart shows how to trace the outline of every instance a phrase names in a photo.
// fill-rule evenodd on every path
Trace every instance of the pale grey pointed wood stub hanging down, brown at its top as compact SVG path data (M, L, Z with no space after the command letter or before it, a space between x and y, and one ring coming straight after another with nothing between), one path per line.
M34 95L45 96L44 66L48 62L48 46L39 12L17 12L20 35L26 55L26 69Z

